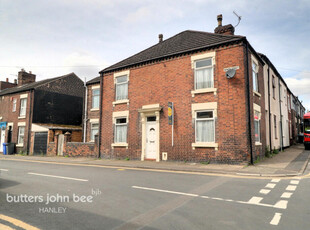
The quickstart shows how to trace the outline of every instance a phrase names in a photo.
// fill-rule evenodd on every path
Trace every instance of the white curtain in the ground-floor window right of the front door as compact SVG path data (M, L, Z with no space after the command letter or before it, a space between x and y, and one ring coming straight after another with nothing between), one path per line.
M214 121L196 122L196 142L214 142Z

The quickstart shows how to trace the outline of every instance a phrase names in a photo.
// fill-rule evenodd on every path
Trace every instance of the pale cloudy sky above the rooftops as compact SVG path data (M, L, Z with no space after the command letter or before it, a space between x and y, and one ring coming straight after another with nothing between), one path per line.
M309 0L0 0L0 80L24 68L37 80L82 80L184 30L238 23L310 109Z

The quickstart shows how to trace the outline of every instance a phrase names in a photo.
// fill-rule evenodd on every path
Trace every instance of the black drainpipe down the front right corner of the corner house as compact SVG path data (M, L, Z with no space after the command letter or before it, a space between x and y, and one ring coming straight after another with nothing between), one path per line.
M250 76L249 76L249 47L248 47L248 42L245 40L245 50L246 50L246 88L247 88L247 97L248 97L248 127L249 127L249 141L250 141L250 156L251 156L251 164L254 164L254 159L253 159L253 143L252 143L252 117L251 117L251 90L250 90Z

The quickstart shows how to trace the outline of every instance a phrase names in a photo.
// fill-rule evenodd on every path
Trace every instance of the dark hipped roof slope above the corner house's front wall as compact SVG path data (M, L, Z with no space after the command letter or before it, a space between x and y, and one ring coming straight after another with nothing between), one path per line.
M223 35L201 31L186 30L171 38L151 46L123 61L120 61L110 67L100 71L107 73L117 69L126 68L145 62L179 55L187 52L198 51L204 48L210 48L225 43L236 42L244 39L244 36Z

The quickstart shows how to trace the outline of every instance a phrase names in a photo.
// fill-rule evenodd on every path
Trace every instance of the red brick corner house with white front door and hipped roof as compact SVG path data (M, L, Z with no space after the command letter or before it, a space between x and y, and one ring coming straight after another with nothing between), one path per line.
M246 37L222 26L221 16L218 23L215 33L160 35L100 72L101 157L241 163L264 156L263 62Z

